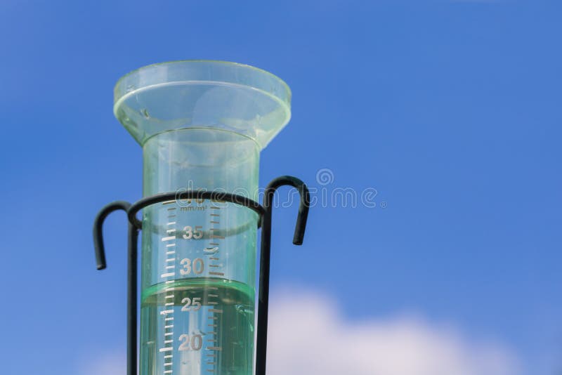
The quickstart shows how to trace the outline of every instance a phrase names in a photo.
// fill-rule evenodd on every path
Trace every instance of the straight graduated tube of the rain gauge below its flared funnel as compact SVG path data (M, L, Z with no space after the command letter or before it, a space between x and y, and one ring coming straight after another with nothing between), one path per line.
M246 136L169 131L149 138L143 154L145 196L221 190L256 199L259 147ZM256 213L197 199L143 212L141 374L251 374Z

